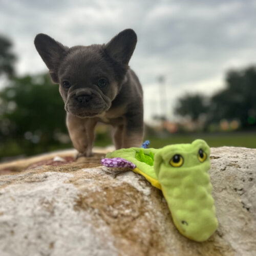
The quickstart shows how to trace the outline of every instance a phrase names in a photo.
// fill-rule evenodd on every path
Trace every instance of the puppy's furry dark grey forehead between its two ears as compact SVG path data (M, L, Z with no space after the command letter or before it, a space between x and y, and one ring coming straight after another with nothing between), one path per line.
M73 47L61 62L59 76L79 81L85 77L114 75L110 63L103 57L101 46Z

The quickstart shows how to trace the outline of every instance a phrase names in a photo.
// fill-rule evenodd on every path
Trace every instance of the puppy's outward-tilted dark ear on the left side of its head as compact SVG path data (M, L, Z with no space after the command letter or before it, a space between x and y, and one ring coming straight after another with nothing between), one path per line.
M58 67L61 59L65 56L65 53L69 48L63 46L60 42L55 41L52 37L46 34L36 35L34 44L37 52L49 69L52 81L59 83Z

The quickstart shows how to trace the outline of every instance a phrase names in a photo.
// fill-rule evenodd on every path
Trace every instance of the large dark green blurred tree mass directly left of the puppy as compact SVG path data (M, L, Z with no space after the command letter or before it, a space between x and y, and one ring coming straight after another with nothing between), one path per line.
M49 75L13 78L0 92L0 157L70 147L65 117Z

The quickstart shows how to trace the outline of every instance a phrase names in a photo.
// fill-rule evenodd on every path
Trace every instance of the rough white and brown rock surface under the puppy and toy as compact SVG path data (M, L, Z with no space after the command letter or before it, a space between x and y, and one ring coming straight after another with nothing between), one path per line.
M175 228L161 191L71 152L0 164L0 255L256 255L256 149L211 148L217 232Z

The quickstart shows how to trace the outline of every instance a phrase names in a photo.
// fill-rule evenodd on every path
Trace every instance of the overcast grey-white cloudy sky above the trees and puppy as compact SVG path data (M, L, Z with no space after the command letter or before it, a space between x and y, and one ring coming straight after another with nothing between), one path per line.
M166 77L168 114L186 92L207 95L225 72L256 63L253 0L0 0L0 34L14 42L20 75L47 71L33 39L46 33L67 46L108 42L133 28L130 66L144 88L145 119L160 113L157 77Z

